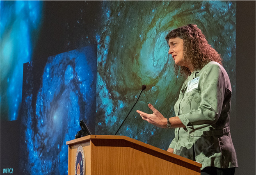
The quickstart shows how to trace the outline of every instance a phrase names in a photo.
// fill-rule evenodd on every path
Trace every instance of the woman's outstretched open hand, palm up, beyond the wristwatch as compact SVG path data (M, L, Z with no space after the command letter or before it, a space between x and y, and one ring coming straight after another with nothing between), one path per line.
M156 110L153 105L149 104L149 108L153 111L153 114L147 114L145 112L137 110L136 112L142 117L143 120L151 123L152 125L167 128L167 119L158 111Z

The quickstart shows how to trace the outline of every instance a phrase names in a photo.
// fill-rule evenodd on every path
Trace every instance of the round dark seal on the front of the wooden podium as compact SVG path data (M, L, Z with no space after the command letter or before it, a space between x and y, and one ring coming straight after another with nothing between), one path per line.
M75 175L85 175L85 153L81 145L75 155Z

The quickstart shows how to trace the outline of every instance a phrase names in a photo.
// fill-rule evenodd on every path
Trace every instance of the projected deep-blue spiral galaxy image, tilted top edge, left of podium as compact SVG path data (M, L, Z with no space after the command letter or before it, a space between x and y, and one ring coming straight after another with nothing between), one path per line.
M75 139L80 120L94 132L96 47L49 57L39 82L32 81L33 64L25 68L21 157L27 159L22 159L21 170L25 174L66 174L66 141ZM34 86L40 86L37 94Z

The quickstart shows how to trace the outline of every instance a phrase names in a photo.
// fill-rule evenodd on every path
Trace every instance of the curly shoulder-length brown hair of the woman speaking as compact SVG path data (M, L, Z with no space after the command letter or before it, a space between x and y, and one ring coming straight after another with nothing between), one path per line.
M183 39L183 60L192 66L193 70L201 70L210 61L216 61L222 65L221 55L208 44L197 25L189 24L169 31L165 37L167 44L169 39L177 37ZM178 66L174 63L174 68L176 75L179 74L179 70L181 75L191 74L189 68L185 66Z

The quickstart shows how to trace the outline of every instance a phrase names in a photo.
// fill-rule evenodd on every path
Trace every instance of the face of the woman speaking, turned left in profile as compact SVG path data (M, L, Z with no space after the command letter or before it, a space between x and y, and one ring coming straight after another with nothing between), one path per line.
M183 39L181 38L172 38L168 41L169 45L169 54L171 54L172 58L175 61L175 64L178 66L185 66L187 67L187 64L185 64L183 59Z

